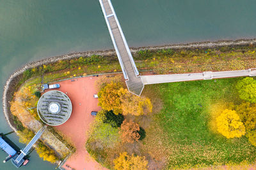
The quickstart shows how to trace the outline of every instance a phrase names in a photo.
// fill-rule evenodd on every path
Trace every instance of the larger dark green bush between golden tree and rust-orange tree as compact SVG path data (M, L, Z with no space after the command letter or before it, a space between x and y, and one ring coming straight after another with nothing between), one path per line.
M111 125L112 127L120 127L124 121L124 116L122 114L115 115L113 111L106 111L106 119L103 120L104 123Z

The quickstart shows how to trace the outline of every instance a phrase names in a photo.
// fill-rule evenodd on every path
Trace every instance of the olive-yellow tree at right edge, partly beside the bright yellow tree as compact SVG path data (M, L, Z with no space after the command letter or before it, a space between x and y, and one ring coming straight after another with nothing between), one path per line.
M249 102L236 106L236 112L244 123L246 131L256 129L256 104Z

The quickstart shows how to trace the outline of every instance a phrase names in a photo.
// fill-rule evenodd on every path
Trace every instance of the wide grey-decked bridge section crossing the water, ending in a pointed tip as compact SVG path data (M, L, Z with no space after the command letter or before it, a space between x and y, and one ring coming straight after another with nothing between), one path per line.
M125 40L124 33L116 17L110 0L99 0L109 34L115 46L116 54L122 68L126 85L130 92L140 96L144 85L139 76L138 69L132 58L131 51Z

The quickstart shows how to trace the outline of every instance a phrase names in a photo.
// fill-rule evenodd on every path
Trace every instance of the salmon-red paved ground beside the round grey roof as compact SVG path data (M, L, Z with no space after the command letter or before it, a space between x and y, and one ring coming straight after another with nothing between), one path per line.
M56 89L67 94L72 102L73 109L71 117L67 122L56 127L56 129L71 139L77 150L62 166L65 169L104 169L90 157L84 146L86 131L94 118L91 115L91 111L100 110L98 99L93 98L93 94L97 94L97 89L95 88L97 78L92 76L60 81L60 89Z

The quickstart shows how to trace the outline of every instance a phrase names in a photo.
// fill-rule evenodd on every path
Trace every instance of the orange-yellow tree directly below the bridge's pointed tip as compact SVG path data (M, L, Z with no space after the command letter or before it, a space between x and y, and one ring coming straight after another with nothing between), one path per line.
M152 112L153 106L147 97L136 96L123 88L119 90L119 96L123 115L140 116Z

